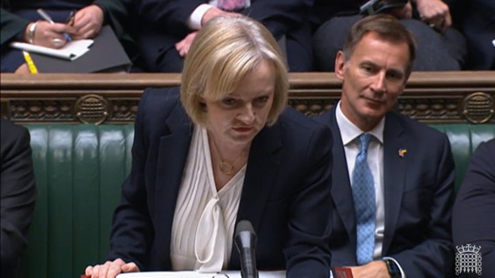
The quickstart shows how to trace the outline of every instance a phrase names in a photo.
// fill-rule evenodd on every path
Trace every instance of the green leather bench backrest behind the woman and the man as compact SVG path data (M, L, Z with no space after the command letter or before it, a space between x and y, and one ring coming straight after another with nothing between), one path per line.
M109 250L113 209L131 165L133 126L28 125L39 198L23 277L79 277ZM444 124L457 167L456 185L472 151L495 137L492 124Z

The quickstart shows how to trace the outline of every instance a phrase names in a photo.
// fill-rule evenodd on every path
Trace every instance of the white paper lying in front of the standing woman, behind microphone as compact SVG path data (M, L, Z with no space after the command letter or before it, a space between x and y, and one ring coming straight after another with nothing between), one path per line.
M196 271L153 271L143 273L121 273L117 278L241 278L239 271L221 273L197 273ZM259 278L285 278L285 270L259 271Z

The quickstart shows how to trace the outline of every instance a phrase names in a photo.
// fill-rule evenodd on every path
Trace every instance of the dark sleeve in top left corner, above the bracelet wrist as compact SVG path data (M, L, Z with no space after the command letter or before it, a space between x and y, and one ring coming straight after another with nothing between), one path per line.
M10 3L8 0L1 0L1 47L10 43L12 38L24 32L30 21L9 12Z

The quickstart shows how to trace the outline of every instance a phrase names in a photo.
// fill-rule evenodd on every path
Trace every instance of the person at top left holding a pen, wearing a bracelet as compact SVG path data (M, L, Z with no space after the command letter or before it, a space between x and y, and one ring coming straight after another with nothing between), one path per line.
M22 51L10 47L13 41L58 49L72 39L94 38L109 24L129 57L137 47L131 18L133 0L1 0L1 72L29 73ZM54 23L36 12L42 8Z

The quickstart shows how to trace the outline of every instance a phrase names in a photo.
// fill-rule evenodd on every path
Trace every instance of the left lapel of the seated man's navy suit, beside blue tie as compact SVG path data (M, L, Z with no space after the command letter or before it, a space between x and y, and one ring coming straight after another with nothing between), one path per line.
M347 160L340 136L340 129L336 120L336 107L330 113L330 127L333 134L333 170L331 194L336 209L344 222L344 227L349 234L351 243L355 244L355 212L354 202L351 192L351 181L349 181L349 170L347 170Z

